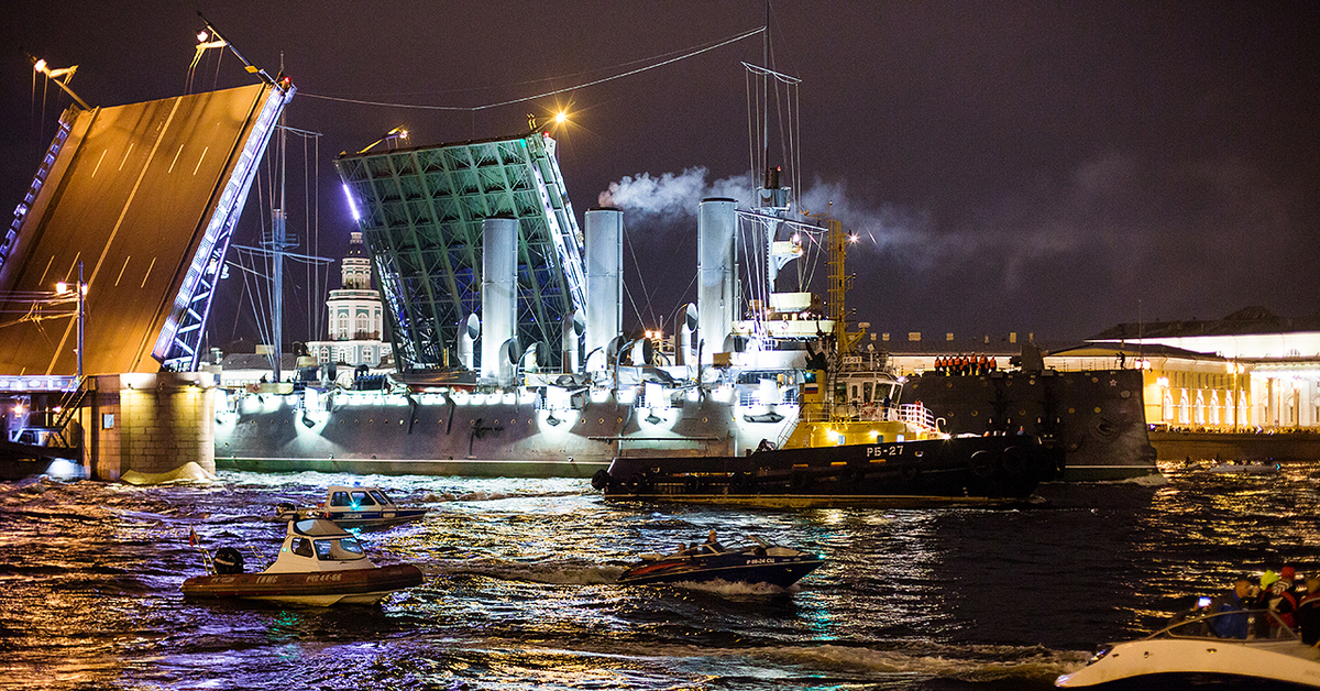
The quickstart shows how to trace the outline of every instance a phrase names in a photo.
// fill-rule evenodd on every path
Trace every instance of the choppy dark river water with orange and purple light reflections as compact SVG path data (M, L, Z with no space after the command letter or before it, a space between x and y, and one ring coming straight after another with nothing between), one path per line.
M0 687L1047 688L1238 573L1320 568L1320 466L1164 470L1162 486L1047 485L1014 510L618 503L585 480L0 484ZM362 532L421 587L327 609L180 596L202 572L190 526L261 568L276 502L355 480L432 510ZM828 563L788 592L612 583L634 554L710 528Z

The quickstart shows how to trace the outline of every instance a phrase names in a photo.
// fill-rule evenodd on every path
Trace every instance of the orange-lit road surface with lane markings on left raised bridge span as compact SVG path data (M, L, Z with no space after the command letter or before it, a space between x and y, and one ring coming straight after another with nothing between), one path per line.
M0 270L0 295L71 285L82 262L86 374L160 370L152 349L269 89L77 114ZM22 305L3 307L0 373L77 373L73 303L18 324Z

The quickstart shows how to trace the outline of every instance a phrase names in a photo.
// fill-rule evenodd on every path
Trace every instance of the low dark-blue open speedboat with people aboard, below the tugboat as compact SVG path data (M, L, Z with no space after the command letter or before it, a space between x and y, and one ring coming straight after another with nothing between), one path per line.
M820 568L825 558L752 538L748 544L725 547L711 536L704 544L668 555L644 554L642 562L619 576L624 584L652 583L768 583L788 588Z

